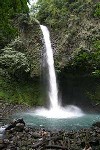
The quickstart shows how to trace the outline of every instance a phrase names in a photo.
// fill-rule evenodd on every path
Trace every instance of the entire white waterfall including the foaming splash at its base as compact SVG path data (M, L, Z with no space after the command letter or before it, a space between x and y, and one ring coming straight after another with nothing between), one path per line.
M35 111L36 115L47 118L75 118L83 116L83 112L76 106L70 105L65 108L61 107L58 101L58 88L54 68L53 50L50 42L50 34L46 26L40 25L44 37L46 48L46 61L49 70L49 99L50 108L40 108Z

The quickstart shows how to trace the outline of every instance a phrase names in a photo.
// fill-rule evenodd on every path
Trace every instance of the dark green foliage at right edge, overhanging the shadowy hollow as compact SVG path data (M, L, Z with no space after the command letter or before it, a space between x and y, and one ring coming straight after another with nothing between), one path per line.
M100 41L93 43L92 51L84 48L76 49L68 62L67 69L87 73L89 75L100 76Z

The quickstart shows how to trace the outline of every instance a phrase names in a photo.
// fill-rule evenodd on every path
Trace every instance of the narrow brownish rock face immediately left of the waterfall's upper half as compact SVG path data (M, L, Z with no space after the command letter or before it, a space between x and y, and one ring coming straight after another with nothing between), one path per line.
M31 64L31 76L37 76L41 73L41 54L42 54L42 32L40 25L36 20L27 20L22 18L19 23L20 40L23 42L28 60Z

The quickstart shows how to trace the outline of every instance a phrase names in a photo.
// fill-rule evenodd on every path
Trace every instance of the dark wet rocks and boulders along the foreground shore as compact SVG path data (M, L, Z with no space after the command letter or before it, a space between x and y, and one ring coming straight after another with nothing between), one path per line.
M13 125L14 127L11 127ZM1 150L80 150L85 143L100 149L100 128L92 127L79 131L47 131L25 126L23 119L12 121L6 128L5 137L0 140Z

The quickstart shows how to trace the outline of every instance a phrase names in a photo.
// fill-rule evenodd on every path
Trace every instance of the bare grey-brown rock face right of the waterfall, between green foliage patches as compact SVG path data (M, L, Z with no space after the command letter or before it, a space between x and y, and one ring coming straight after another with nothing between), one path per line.
M59 24L59 28L51 27L51 40L57 69L67 66L80 48L88 51L96 50L93 45L100 38L99 17L94 17L95 3L75 3L77 8L72 8L67 19ZM69 5L69 9L70 7L71 5Z

